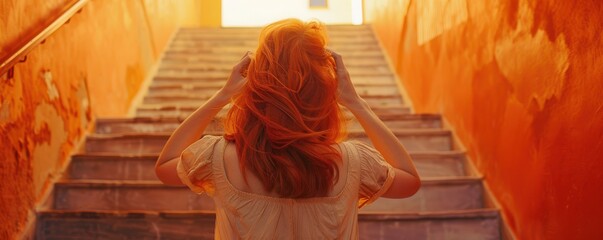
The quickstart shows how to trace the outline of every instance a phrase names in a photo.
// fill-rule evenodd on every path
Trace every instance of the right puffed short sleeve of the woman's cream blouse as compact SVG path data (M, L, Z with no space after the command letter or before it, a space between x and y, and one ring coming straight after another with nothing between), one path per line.
M381 197L394 181L394 168L377 150L361 142L353 142L360 161L360 189L358 207L361 208Z

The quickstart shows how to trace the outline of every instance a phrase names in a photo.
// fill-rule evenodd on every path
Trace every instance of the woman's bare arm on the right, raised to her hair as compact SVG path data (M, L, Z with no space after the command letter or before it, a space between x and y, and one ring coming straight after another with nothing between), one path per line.
M375 149L394 167L394 181L382 197L405 198L414 195L421 187L421 179L408 151L366 101L356 93L341 56L335 52L331 54L337 64L339 103L354 114Z

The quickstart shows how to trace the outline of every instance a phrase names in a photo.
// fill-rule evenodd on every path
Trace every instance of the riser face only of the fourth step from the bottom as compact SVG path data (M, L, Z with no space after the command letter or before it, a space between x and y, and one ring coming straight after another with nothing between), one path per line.
M372 145L366 137L353 138ZM404 135L398 139L409 151L449 151L450 135ZM125 137L86 140L86 152L154 154L161 151L167 136Z

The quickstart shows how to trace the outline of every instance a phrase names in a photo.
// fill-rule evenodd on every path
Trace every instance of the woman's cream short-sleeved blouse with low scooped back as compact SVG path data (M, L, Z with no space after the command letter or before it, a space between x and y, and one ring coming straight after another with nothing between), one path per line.
M214 198L220 239L356 239L358 206L381 196L394 177L372 148L343 142L340 178L328 196L280 198L250 191L262 185L251 175L248 185L242 183L233 148L222 137L205 136L183 152L178 165L185 184Z

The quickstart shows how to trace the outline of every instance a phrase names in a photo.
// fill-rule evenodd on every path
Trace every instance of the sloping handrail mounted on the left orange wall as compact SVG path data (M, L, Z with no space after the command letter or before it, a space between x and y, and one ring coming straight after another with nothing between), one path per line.
M73 3L67 7L61 16L55 19L52 23L46 26L42 31L40 31L36 36L29 39L29 41L22 43L18 46L18 50L8 57L0 56L0 76L3 76L7 72L11 71L13 66L17 64L21 59L27 56L27 54L38 44L42 43L46 38L52 35L56 30L58 30L61 26L63 26L66 22L73 17L76 13L78 13L86 3L90 0L75 0Z

